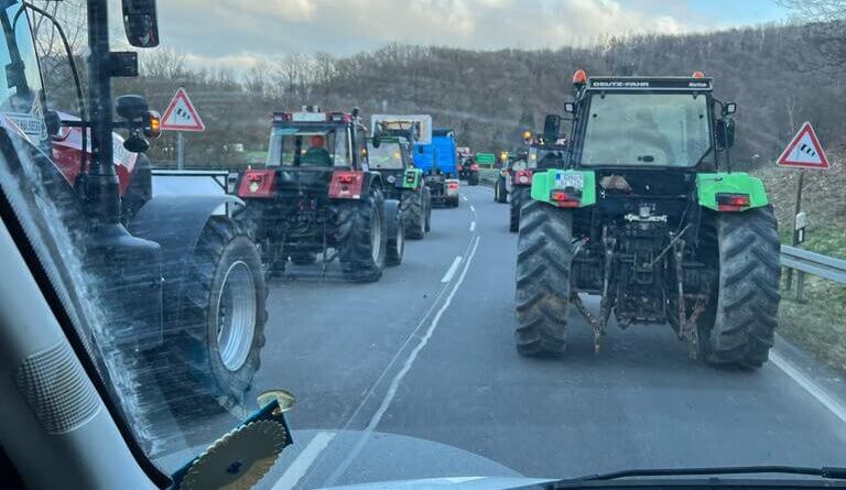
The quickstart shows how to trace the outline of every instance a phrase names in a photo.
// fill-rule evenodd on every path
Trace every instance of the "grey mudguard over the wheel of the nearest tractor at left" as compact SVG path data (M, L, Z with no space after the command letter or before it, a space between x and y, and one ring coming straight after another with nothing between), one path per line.
M193 265L194 250L208 218L217 208L243 202L235 196L173 196L162 195L148 200L135 213L129 231L139 238L159 243L162 251L164 279L164 325L178 328L183 311L183 288Z

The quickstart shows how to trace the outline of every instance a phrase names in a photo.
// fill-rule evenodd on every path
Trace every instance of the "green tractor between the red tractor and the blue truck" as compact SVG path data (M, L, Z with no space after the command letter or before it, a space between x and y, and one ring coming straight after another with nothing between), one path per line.
M419 240L431 229L432 196L423 171L412 163L410 140L391 133L384 130L367 139L370 171L382 175L386 198L400 202L405 237Z

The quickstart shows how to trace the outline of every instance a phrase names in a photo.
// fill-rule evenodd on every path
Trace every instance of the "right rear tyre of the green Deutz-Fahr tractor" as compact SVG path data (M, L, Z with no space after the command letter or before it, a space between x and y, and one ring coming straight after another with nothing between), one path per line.
M701 339L713 364L750 369L768 358L778 325L780 246L771 207L716 216L719 260L716 297L706 318L713 327Z

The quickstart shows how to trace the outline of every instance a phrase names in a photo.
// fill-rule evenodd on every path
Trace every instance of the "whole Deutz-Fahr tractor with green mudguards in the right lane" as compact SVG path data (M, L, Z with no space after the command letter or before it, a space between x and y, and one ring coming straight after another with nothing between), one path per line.
M777 222L761 181L731 172L734 102L713 80L573 77L564 168L535 172L521 209L517 349L558 355L567 312L594 348L617 325L669 324L692 358L728 368L768 359L779 306ZM551 115L544 134L558 137ZM600 296L598 316L579 293Z

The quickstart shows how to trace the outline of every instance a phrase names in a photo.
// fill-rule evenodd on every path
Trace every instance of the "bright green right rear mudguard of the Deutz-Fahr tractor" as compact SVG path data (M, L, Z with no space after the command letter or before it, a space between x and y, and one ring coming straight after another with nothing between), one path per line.
M748 204L739 209L723 208L717 203L717 195L747 196ZM696 196L699 206L722 210L747 210L767 206L767 192L763 183L758 177L752 177L745 172L713 172L696 174Z

